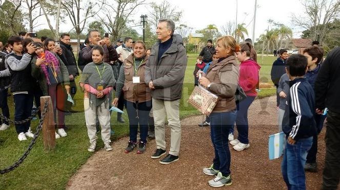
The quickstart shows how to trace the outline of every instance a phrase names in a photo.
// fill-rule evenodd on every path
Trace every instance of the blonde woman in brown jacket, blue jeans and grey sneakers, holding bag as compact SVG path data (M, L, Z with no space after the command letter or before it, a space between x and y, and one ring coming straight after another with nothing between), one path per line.
M230 150L228 146L229 129L236 119L235 91L238 83L238 63L235 52L239 51L232 36L223 36L217 40L216 56L207 74L199 71L202 77L199 83L218 96L218 102L210 114L211 141L215 150L213 164L204 168L204 174L216 176L208 183L213 187L231 185Z

